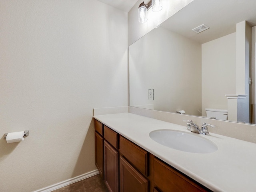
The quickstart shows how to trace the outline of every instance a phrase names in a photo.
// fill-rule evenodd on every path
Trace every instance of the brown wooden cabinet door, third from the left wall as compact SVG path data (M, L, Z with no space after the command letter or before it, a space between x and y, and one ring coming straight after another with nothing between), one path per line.
M120 192L148 192L149 182L120 156Z

